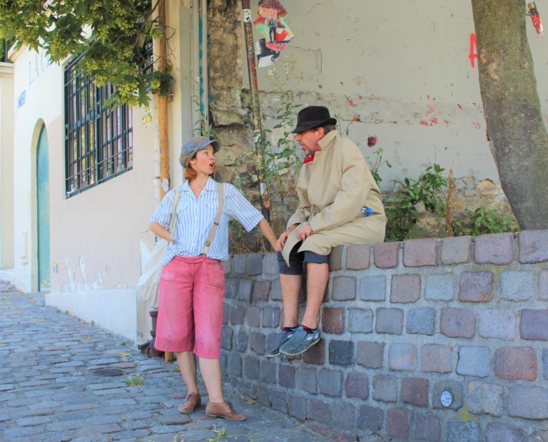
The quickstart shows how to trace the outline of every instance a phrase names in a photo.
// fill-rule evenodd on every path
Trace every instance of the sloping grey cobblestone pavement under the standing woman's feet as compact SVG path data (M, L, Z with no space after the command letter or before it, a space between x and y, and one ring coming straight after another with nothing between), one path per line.
M93 369L123 369L97 376ZM141 376L143 384L126 385ZM0 282L0 441L328 441L306 424L225 389L248 419L178 413L176 363L148 359L119 336L9 292ZM204 400L205 399L205 400Z

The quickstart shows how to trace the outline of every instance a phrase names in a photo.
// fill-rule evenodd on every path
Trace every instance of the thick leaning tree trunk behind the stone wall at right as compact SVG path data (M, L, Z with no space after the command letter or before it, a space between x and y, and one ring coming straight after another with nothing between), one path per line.
M548 133L523 0L472 0L487 134L519 226L548 229Z

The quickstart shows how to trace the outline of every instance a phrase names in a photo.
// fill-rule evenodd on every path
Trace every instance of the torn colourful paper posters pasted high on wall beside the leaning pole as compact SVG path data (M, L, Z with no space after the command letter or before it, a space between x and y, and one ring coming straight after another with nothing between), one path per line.
M293 32L285 22L288 11L278 0L260 0L258 15L253 24L263 38L255 43L259 68L272 66L280 52L294 37Z

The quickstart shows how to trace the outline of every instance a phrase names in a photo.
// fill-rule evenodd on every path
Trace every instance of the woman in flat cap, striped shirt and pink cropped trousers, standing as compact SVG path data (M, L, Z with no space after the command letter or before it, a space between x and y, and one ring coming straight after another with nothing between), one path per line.
M217 140L195 137L181 148L185 181L170 190L151 217L151 231L169 242L160 277L155 346L173 351L188 388L181 413L201 405L196 384L196 356L208 390L208 416L243 421L224 401L220 381L220 337L223 324L224 270L228 259L228 221L238 220L248 232L256 225L275 247L276 238L263 215L228 183L215 183ZM176 206L176 227L169 232ZM219 220L220 217L220 220ZM218 228L216 228L218 227ZM216 231L215 231L216 228ZM195 356L196 355L196 356Z

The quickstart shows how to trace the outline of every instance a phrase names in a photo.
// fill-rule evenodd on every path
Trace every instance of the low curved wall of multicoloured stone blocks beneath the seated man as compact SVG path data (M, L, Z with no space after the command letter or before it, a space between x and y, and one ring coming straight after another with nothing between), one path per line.
M225 272L223 373L261 404L336 441L548 441L548 231L337 247L323 339L293 358L264 356L275 254Z

